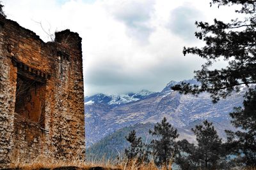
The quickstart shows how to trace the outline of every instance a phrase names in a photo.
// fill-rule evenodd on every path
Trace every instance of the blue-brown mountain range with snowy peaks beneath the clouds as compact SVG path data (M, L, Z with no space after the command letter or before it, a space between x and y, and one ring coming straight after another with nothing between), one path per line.
M190 84L198 84L196 80L186 80ZM191 129L191 126L202 120L214 122L216 129L224 134L230 129L228 113L235 106L243 103L244 89L234 93L227 99L212 103L209 94L198 97L181 95L170 89L180 82L170 81L161 92L142 90L120 96L97 94L86 97L86 146L91 146L105 136L129 125L160 122L163 117L180 129Z

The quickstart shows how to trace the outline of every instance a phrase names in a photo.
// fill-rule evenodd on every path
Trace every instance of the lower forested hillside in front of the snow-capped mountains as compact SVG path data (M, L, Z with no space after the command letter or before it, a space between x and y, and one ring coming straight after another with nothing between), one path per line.
M191 122L187 127L179 128L177 127L177 131L179 133L178 140L187 139L190 143L195 143L195 135L191 131L191 128L195 128L195 125L201 124L201 120L196 120ZM218 131L218 134L225 140L224 129L232 129L230 124L224 120L222 122L213 122L214 127ZM111 159L118 157L124 153L125 148L129 146L129 143L126 141L125 136L128 136L129 132L132 130L136 131L136 136L141 137L144 143L150 143L152 140L152 136L149 134L149 129L153 129L155 124L146 123L146 124L135 124L128 127L123 127L118 129L116 132L109 134L108 136L100 139L97 143L90 146L87 151L87 159L101 159L104 157L105 159Z

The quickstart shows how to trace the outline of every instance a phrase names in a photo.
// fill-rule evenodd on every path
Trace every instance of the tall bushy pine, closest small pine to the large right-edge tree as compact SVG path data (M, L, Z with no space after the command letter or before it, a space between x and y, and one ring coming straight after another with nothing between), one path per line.
M203 169L219 169L221 160L225 157L225 150L221 146L221 139L212 123L204 121L203 125L196 125L191 129L196 135L198 147L195 157Z

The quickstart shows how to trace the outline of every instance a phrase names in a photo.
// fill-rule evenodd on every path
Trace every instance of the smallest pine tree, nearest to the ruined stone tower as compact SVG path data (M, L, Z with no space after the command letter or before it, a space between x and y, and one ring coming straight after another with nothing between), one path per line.
M133 130L125 137L131 144L129 148L125 148L125 156L129 161L137 160L137 162L143 161L144 155L144 144L141 141L141 137L136 137L136 132Z

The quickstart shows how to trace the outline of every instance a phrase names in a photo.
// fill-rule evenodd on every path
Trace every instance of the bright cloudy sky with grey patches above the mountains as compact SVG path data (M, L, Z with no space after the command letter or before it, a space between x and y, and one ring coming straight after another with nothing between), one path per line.
M228 7L210 0L2 0L8 18L44 41L63 29L83 38L85 94L159 91L170 80L193 78L204 60L182 55L202 46L195 21L229 21ZM41 23L41 24L40 24ZM42 25L42 27L41 27ZM43 29L42 29L43 28ZM218 67L223 66L220 63Z

